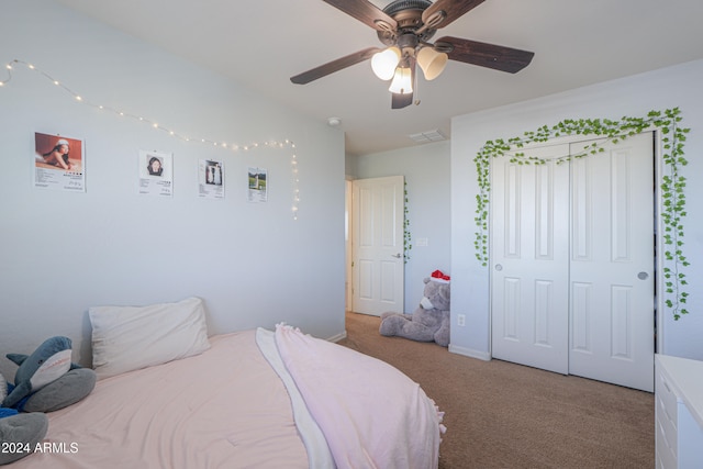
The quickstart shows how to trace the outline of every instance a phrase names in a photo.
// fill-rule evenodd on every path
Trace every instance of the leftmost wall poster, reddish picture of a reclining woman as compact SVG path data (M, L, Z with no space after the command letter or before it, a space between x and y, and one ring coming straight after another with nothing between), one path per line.
M34 187L85 192L85 166L81 139L34 133Z

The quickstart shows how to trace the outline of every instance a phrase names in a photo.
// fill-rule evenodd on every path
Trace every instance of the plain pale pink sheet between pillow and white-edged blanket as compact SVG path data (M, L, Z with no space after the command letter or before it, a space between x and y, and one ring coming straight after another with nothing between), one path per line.
M196 357L98 381L52 412L42 450L10 469L309 469L288 392L254 331Z

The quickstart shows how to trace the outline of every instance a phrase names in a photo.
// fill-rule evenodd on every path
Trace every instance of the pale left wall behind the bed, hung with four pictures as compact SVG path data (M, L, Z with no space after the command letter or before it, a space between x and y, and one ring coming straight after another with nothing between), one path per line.
M67 335L88 364L88 308L189 295L205 300L211 334L280 321L344 333L341 132L47 0L3 2L2 22L2 65L33 63L86 100L215 142L293 141L301 193L294 221L290 150L182 142L15 67L0 87L2 356ZM33 187L34 132L85 139L86 193ZM172 198L137 193L140 149L172 153ZM224 159L224 200L197 197L200 158ZM268 170L267 203L246 202L249 166Z

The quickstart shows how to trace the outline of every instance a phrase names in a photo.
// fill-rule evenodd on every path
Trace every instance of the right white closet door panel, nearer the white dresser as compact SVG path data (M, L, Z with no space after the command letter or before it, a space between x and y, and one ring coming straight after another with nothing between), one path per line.
M652 138L571 163L569 373L646 391L654 390Z

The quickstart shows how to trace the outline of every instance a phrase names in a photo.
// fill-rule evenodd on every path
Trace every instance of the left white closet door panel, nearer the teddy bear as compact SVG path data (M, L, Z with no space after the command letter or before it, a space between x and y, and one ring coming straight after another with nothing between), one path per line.
M531 150L551 158L569 146ZM492 356L567 373L569 167L492 161Z

